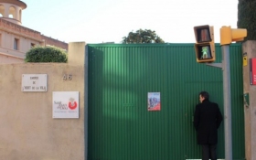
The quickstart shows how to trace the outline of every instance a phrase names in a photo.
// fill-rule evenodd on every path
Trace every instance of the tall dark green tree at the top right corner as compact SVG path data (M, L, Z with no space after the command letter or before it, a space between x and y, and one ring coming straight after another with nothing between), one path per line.
M239 0L238 28L247 29L247 37L244 40L256 40L256 1Z

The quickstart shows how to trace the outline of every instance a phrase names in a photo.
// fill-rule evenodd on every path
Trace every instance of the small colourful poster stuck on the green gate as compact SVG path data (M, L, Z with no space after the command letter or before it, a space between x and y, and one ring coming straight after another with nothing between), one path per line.
M160 111L161 100L160 92L148 92L147 93L147 111Z

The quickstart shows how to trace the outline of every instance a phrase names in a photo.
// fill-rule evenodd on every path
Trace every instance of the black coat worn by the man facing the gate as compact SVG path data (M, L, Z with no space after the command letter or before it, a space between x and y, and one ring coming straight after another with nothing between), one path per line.
M194 113L194 127L197 130L197 144L217 144L222 115L215 102L204 100L197 104Z

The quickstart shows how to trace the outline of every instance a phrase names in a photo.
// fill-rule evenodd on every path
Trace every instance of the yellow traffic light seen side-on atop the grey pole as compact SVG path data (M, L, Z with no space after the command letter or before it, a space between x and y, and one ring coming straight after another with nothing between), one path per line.
M229 45L232 41L242 41L247 37L247 29L238 28L232 29L230 27L220 28L220 45Z

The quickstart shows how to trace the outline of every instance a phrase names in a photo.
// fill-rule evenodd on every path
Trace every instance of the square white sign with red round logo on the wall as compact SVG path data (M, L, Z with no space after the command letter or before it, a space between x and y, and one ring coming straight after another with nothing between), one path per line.
M52 92L52 118L79 118L79 108L79 91Z

